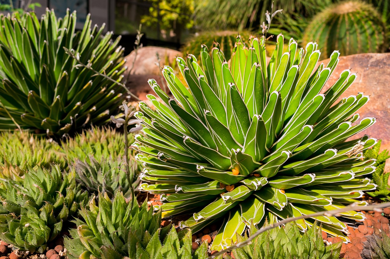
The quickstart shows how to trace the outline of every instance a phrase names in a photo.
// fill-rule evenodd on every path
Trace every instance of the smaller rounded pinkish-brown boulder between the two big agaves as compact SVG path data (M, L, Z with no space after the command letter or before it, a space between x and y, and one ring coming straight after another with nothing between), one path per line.
M157 55L160 56L160 64L158 63ZM134 67L131 70L132 75L160 75L161 67L176 63L176 57L181 57L182 54L180 51L174 49L167 49L163 47L142 47L138 49L137 57L135 59ZM126 56L126 66L128 70L125 72L125 77L129 72L130 68L133 66L133 61L135 57L135 51L132 51L128 56Z

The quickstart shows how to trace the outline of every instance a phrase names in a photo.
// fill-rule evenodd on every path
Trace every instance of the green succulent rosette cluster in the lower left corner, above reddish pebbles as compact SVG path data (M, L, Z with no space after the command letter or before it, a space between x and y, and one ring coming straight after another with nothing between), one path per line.
M23 182L2 179L0 189L0 239L18 249L43 253L47 242L62 229L63 221L87 205L74 173L62 176L58 166L51 170L28 170Z

